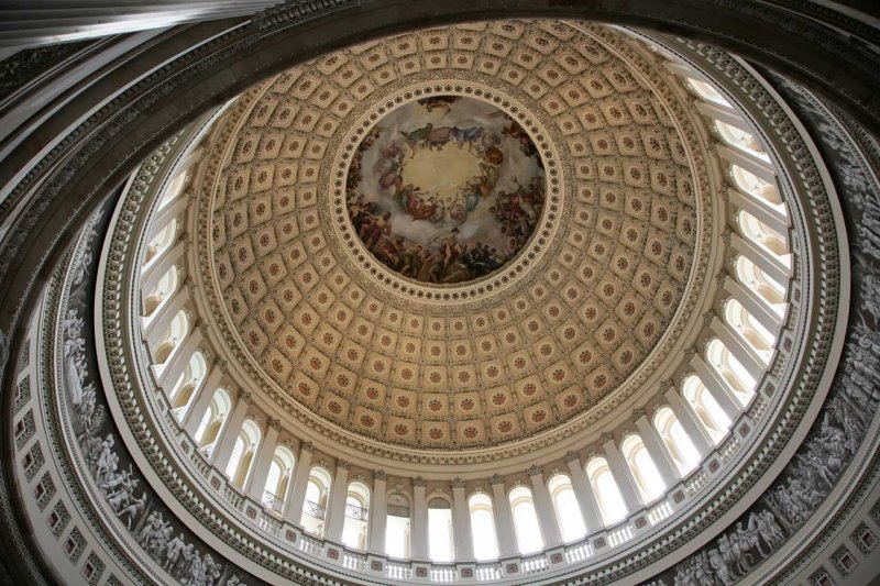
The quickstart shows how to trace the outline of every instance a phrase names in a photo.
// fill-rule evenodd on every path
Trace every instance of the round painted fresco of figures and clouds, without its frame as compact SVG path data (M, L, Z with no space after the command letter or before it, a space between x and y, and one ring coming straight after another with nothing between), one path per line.
M538 148L482 100L431 96L382 118L358 146L345 198L354 233L393 272L435 285L507 265L544 207Z

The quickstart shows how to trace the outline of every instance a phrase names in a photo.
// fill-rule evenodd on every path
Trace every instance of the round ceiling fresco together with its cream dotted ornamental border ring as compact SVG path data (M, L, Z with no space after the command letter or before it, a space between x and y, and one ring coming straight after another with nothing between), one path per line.
M520 102L471 81L389 95L333 161L342 248L378 286L421 302L509 288L541 259L563 217L549 136Z

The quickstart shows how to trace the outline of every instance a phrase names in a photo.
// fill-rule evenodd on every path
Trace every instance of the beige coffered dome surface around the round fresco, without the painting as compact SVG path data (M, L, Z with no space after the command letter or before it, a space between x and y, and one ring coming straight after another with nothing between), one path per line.
M686 117L632 44L558 22L430 30L243 96L209 144L195 240L254 386L327 429L428 449L521 440L632 392L679 333L707 217ZM454 296L371 272L334 201L352 129L449 90L519 114L554 178L531 262Z

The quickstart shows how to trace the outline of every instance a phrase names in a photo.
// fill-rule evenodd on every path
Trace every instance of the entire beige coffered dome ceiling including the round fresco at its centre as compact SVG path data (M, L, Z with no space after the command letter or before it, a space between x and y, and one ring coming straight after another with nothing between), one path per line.
M584 429L637 390L674 358L711 210L680 98L636 46L463 25L245 93L194 235L232 357L314 428L421 449Z

